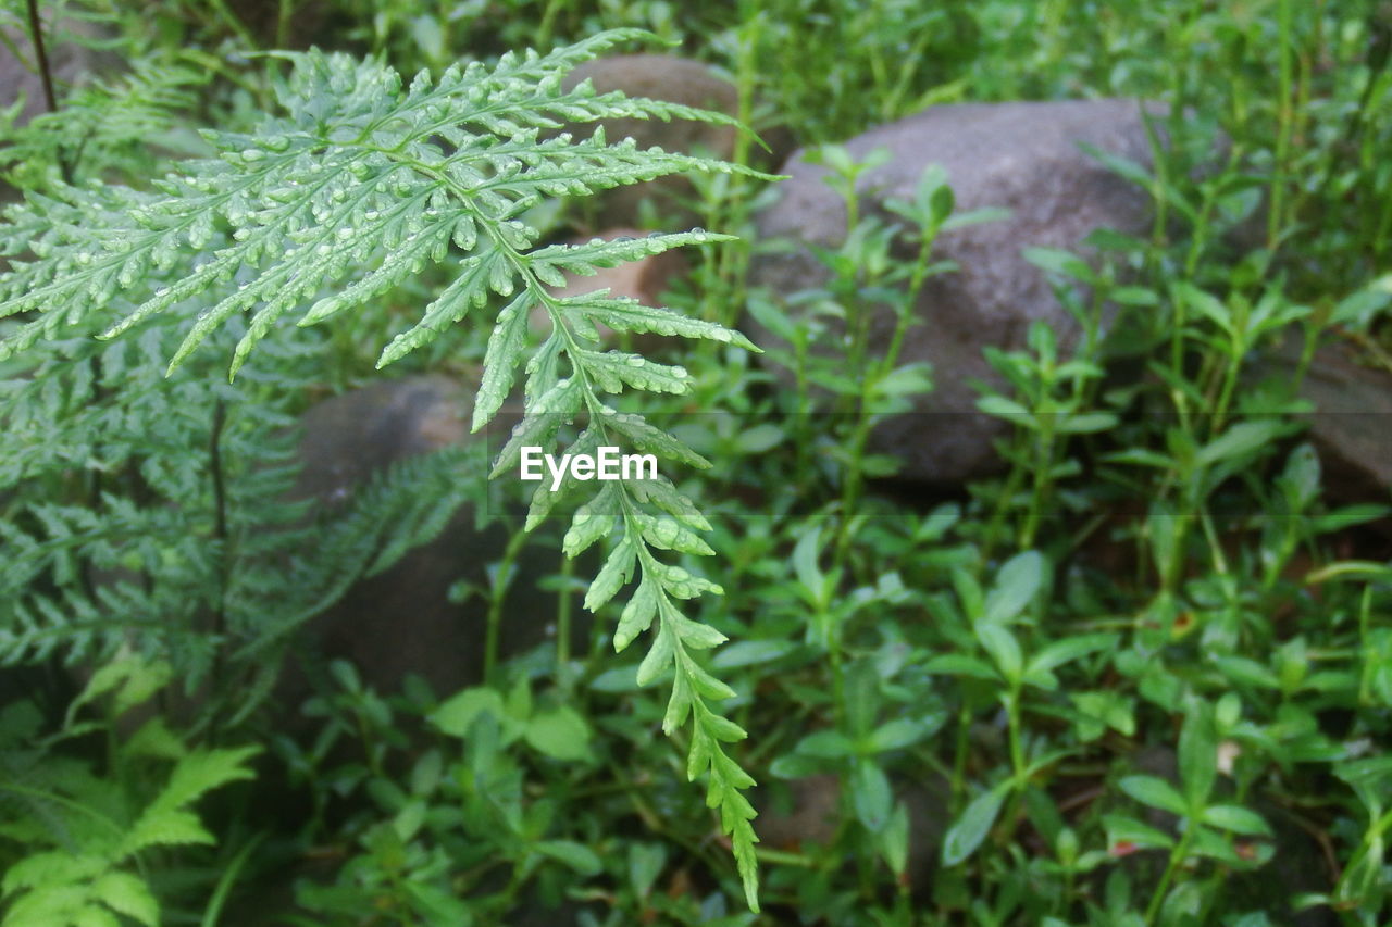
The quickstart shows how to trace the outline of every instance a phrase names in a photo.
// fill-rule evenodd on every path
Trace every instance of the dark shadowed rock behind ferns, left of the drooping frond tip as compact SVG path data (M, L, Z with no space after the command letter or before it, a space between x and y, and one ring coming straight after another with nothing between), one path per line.
M295 497L342 505L390 465L468 440L468 405L466 391L441 376L383 380L320 402L303 416ZM505 546L501 523L479 532L472 509L461 509L433 541L359 580L308 622L301 647L310 657L310 678L313 667L345 658L379 692L398 690L408 672L423 676L438 696L479 682L487 604L480 596L455 604L448 592L461 579L486 586L487 565ZM540 546L523 551L505 601L500 656L546 637L555 599L539 592L536 579L554 572L558 557ZM291 676L290 688L299 690L284 692L287 699L302 695L302 682Z

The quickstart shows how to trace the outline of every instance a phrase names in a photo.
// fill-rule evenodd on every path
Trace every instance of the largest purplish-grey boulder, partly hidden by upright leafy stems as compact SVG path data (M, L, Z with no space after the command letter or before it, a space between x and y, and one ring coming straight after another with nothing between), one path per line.
M999 384L981 349L1022 347L1034 320L1047 322L1068 344L1075 328L1070 316L1020 251L1031 245L1077 249L1100 227L1128 234L1147 228L1147 193L1089 156L1082 143L1141 164L1151 161L1141 106L1130 100L938 106L846 143L857 160L878 148L889 152L885 164L859 180L866 214L896 219L884 209L885 199L912 199L930 164L947 168L959 212L1011 210L1009 219L938 238L935 258L955 260L959 270L923 288L916 313L924 324L909 330L901 354L901 362L933 365L934 390L873 436L873 450L902 461L901 476L952 484L997 468L992 440L1002 426L976 411L979 394L969 384L972 379ZM754 258L752 283L775 295L825 283L827 270L807 245L834 248L846 235L841 196L823 182L827 168L809 164L805 154L795 152L788 160L782 173L791 180L757 217L763 239L803 245ZM908 245L901 256L912 259ZM773 341L752 320L746 324L756 341ZM883 351L894 331L888 309L871 320L870 330L871 349Z

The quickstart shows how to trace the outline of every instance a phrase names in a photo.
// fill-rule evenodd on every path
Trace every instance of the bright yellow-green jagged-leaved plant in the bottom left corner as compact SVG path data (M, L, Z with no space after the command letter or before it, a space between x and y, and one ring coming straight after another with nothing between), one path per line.
M116 924L124 914L156 927L164 923L152 887L156 859L166 848L212 845L213 834L193 813L206 793L252 778L255 746L189 749L159 717L149 718L117 746L114 727L168 685L171 668L134 653L97 670L68 708L57 736L40 736L32 703L8 706L0 731L0 841L21 859L0 880L7 927ZM82 721L84 706L103 703L104 720ZM58 759L64 740L104 734L110 770ZM166 850L167 852L167 850ZM168 866L167 860L163 862ZM235 867L228 869L235 874Z

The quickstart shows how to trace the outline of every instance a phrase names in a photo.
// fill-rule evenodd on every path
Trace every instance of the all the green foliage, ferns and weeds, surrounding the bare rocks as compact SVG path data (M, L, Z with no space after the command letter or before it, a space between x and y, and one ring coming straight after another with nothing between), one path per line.
M0 227L0 923L1392 916L1392 509L1329 479L1296 394L1325 341L1392 369L1388 4L61 6L100 29L50 45L103 35L131 71L0 136L29 203ZM22 35L26 4L0 15ZM1083 337L1041 326L991 356L1011 387L981 399L1012 425L998 477L895 483L867 433L933 372L803 349L876 301L909 324L951 273L938 235L991 217L958 214L930 171L895 224L855 220L818 291L750 288L752 251L778 245L753 231L775 184L753 139L722 164L526 131L644 104L539 102L580 52L508 50L635 26L805 145L944 102L1169 104L1157 167L1111 163L1151 195L1153 234L1030 252ZM345 54L252 54L309 42ZM489 74L494 96L470 97ZM863 166L823 160L855 200ZM685 170L654 227L681 206L710 234L554 245L599 231L593 189ZM693 266L672 316L544 287L677 245ZM540 347L522 301L558 333ZM825 330L792 322L812 302ZM786 406L732 333L746 316L837 415ZM594 323L704 340L615 366ZM1299 365L1260 380L1281 342ZM523 352L539 443L594 440L561 419L614 402L661 426L612 416L674 482L546 521L489 496L491 461L464 448L329 515L285 501L313 399L482 369L483 422ZM461 692L374 690L338 663L278 704L292 632L462 505L516 540L461 592L551 640L501 661L487 635L487 678ZM599 541L596 564L562 555ZM548 614L509 589L523 546L554 555ZM644 632L646 660L615 653Z

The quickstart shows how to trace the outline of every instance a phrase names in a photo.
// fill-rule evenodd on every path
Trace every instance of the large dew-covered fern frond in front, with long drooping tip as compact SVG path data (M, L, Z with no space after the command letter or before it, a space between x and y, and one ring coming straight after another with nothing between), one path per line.
M26 238L0 232L0 248L32 256L0 277L0 319L21 322L0 340L0 359L56 338L71 326L104 328L103 338L143 330L157 316L188 319L170 352L168 369L185 363L205 341L235 333L230 374L284 323L313 326L397 287L430 266L452 270L451 283L420 319L381 351L386 366L430 344L494 298L483 377L472 427L482 429L525 374L526 419L500 455L514 459L523 438L554 444L567 420L583 418L569 454L629 445L683 465L704 461L638 415L610 408L606 394L685 394L685 369L639 355L603 349L597 326L706 338L754 351L729 328L686 319L604 292L557 298L551 287L568 273L593 273L683 245L728 241L703 230L644 239L539 245L528 210L546 196L585 196L682 171L742 173L746 167L631 139L610 142L603 131L575 138L568 125L611 118L693 118L734 125L729 117L657 100L594 92L589 82L561 89L576 64L619 42L643 38L629 29L597 35L540 56L505 54L491 68L452 67L438 79L422 72L409 85L377 61L347 56L284 53L294 68L277 89L285 113L248 134L206 132L216 159L192 160L155 191L117 187L60 188L10 210ZM528 352L529 320L540 310L551 331ZM79 333L79 334L81 334ZM276 333L274 338L270 335ZM576 554L619 529L587 604L600 608L636 578L615 633L622 649L656 622L640 682L674 672L664 728L693 725L689 774L709 777L707 800L721 811L752 908L754 895L753 810L742 791L753 781L724 746L743 736L711 707L729 697L696 654L724 636L682 617L678 601L720 587L663 557L710 554L699 532L709 526L690 500L665 480L592 484L571 476L558 491L543 486L532 500L528 528L567 497L589 493L564 544Z

